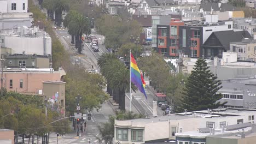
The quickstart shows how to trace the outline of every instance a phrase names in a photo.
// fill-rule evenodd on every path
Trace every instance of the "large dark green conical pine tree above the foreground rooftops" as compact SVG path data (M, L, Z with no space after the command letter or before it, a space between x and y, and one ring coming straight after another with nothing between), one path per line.
M222 88L220 86L222 82L210 72L206 60L198 59L193 69L182 92L183 108L188 111L198 111L215 109L226 104L218 101L223 97L221 93L216 93Z

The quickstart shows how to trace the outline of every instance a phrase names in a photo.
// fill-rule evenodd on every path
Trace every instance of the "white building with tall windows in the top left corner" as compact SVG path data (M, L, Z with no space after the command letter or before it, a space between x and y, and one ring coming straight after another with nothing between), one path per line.
M0 13L27 13L27 0L0 0Z

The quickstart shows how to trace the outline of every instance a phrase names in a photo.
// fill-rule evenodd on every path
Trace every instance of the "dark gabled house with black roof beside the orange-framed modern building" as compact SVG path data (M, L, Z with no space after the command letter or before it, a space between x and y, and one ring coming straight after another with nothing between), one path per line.
M205 57L218 56L222 58L222 52L230 50L230 43L241 41L243 38L252 39L247 31L218 31L213 32L203 43L203 55Z

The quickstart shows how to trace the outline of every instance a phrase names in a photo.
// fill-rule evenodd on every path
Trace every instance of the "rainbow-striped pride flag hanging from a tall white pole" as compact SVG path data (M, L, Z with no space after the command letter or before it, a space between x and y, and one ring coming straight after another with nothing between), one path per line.
M139 89L139 91L141 91L145 95L146 99L148 99L144 89L146 86L146 82L144 81L141 71L139 71L138 65L132 54L131 54L131 82Z

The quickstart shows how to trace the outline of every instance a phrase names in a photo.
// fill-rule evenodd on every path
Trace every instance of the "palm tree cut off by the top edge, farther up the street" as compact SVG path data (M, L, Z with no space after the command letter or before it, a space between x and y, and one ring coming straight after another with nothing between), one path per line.
M54 0L54 10L55 10L55 23L57 26L61 26L62 22L62 12L69 9L67 0Z

